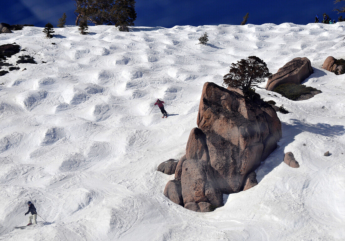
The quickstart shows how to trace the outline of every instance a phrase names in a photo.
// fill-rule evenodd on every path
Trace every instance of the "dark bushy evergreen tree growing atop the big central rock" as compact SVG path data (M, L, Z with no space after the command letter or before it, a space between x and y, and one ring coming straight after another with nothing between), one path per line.
M245 97L252 99L255 95L253 87L258 87L259 83L270 77L272 74L266 63L256 56L249 56L247 59L237 61L236 64L231 64L230 72L224 76L223 84L230 88L241 89Z

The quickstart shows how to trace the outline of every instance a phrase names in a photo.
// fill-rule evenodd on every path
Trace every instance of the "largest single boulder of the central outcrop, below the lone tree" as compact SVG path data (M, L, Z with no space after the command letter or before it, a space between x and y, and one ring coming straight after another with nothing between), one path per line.
M197 125L206 134L218 187L227 194L243 189L247 175L282 137L280 120L269 104L261 101L259 106L209 82L201 94Z

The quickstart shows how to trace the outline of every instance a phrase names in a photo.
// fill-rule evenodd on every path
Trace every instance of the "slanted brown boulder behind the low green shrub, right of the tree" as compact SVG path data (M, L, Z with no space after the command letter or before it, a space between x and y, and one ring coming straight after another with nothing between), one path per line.
M308 58L294 58L287 62L267 81L266 89L274 90L280 84L300 84L314 72Z

